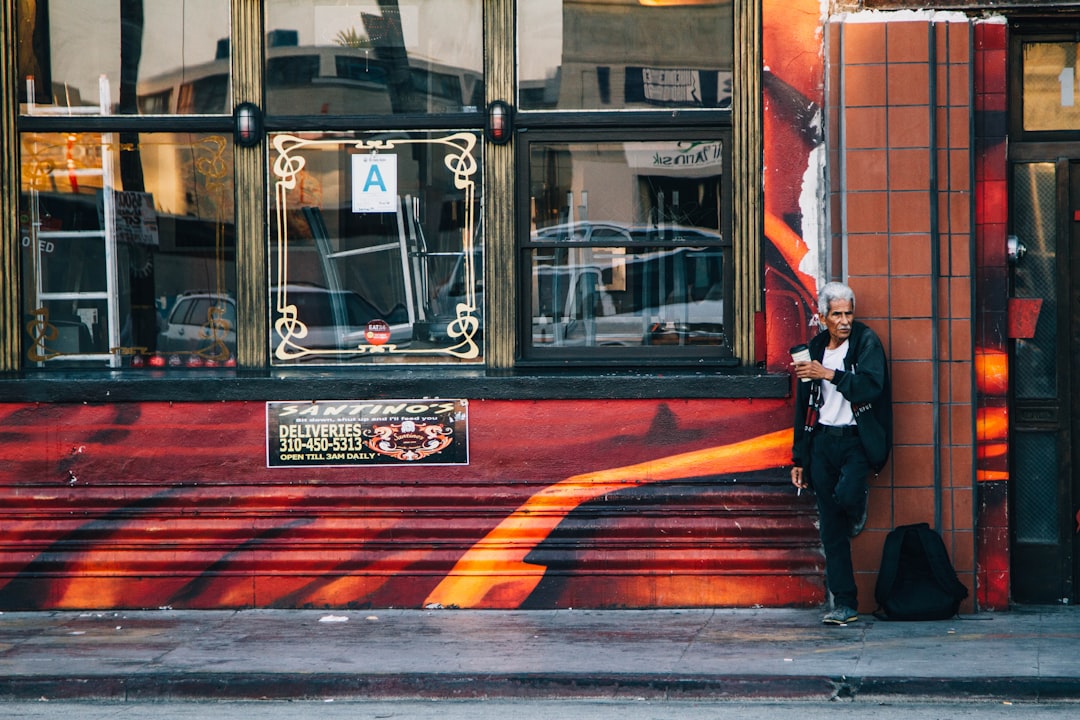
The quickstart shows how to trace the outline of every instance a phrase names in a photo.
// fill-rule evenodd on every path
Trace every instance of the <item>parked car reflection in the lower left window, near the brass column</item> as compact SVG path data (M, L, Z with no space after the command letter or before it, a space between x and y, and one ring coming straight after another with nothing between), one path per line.
M235 354L235 300L217 293L181 293L168 312L164 329L158 334L158 351L215 354L218 340L225 343L229 355Z

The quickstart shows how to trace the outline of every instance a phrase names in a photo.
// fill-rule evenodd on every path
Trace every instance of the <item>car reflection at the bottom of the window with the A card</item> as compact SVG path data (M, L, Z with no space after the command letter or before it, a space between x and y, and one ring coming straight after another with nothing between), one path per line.
M279 289L282 293L279 294ZM296 320L302 327L291 328L288 315L282 312L287 308L296 309ZM373 320L384 321L390 326L388 344L403 347L413 340L413 326L405 305L381 312L352 290L296 284L272 288L271 311L274 320L270 331L271 350L283 340L306 350L353 350L369 344L365 334Z

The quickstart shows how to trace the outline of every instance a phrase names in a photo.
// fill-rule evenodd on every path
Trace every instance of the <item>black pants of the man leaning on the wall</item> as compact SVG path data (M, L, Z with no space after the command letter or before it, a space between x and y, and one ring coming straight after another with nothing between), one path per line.
M851 565L851 526L866 506L869 461L858 435L815 431L810 441L810 485L818 499L825 584L834 603L859 610Z

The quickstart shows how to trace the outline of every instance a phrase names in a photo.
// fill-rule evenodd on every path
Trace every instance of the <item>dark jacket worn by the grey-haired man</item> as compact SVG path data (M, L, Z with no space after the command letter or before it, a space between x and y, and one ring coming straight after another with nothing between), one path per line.
M819 363L825 357L828 331L810 341L810 357ZM810 466L810 436L821 404L823 380L796 380L795 443L792 462L802 468ZM892 447L892 393L889 386L889 363L881 341L863 323L855 321L848 338L848 354L843 370L837 370L833 384L849 403L859 425L859 439L874 472L880 472ZM808 412L809 410L809 412Z

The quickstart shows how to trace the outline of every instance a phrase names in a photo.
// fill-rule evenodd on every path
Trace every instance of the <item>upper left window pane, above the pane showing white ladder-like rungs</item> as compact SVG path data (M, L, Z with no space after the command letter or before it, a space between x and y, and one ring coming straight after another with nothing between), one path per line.
M229 0L21 2L25 114L221 114Z

